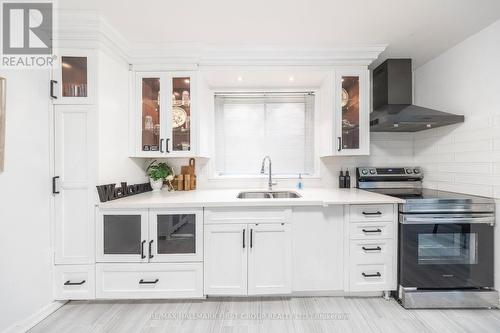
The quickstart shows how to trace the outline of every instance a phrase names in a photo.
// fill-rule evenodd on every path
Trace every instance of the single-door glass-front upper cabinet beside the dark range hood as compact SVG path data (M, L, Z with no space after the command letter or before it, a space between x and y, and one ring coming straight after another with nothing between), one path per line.
M369 154L367 76L367 70L342 70L335 74L335 155Z

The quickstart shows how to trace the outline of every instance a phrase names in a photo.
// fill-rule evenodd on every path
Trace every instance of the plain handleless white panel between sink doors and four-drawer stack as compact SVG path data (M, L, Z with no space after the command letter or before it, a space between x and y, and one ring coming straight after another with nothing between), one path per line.
M292 290L344 290L344 206L294 207Z

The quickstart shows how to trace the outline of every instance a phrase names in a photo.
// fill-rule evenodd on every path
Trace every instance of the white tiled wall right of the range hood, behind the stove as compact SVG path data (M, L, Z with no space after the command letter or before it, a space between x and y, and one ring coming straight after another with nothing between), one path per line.
M418 105L465 115L465 123L415 135L425 186L497 199L500 244L500 21L414 73ZM495 248L500 286L500 245Z

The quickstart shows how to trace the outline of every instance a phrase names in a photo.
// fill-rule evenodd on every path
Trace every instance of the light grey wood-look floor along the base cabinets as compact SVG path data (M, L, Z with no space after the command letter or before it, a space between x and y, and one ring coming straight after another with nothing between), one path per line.
M405 310L382 298L74 301L30 332L500 332L499 310Z

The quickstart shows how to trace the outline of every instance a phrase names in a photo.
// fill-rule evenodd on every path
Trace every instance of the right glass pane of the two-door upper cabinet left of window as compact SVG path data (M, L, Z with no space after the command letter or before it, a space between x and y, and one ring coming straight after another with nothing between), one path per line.
M172 77L172 152L191 150L191 77Z

